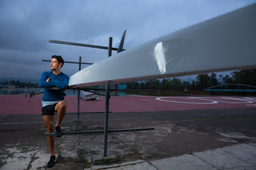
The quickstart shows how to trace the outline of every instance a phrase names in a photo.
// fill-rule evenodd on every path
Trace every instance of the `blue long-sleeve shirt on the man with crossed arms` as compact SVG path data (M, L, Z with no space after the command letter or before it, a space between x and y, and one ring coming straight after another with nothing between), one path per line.
M50 79L50 81L46 81ZM63 90L47 89L50 87L58 87L60 89L66 89L68 87L69 77L63 72L55 75L53 71L43 72L41 79L39 80L39 86L43 89L43 101L63 101L65 93Z

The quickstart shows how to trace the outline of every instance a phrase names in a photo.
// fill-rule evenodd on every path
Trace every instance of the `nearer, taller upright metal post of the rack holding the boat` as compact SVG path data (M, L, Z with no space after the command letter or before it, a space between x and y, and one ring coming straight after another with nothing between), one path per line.
M109 39L108 57L112 55L112 37ZM106 108L105 108L105 128L104 128L104 152L103 157L107 157L107 132L108 132L108 118L110 106L110 84L106 85Z

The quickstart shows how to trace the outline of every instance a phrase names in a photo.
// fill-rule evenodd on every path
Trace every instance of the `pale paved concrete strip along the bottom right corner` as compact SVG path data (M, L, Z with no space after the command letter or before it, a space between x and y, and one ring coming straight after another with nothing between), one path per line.
M144 162L127 162L112 166L92 166L90 169L158 169L158 170L252 170L256 168L255 143L233 145L210 149L177 157L148 160ZM89 170L89 169L86 169Z

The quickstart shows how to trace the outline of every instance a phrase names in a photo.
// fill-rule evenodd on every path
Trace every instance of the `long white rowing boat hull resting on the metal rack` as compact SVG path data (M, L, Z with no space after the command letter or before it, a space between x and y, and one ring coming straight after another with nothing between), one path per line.
M256 67L256 4L119 52L70 77L82 88Z

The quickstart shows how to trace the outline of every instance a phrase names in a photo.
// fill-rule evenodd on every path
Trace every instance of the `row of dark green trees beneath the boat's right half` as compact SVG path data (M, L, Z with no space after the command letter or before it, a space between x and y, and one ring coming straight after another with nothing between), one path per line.
M161 91L203 91L210 86L220 84L247 84L256 86L256 69L245 69L231 73L232 77L217 74L199 74L196 80L181 81L181 79L149 80L127 83L127 89L146 89Z

